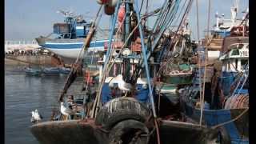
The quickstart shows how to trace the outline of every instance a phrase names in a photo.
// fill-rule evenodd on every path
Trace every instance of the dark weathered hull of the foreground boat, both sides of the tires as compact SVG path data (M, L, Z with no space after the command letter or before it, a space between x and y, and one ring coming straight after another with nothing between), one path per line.
M217 131L186 122L160 121L162 144L207 143L217 138ZM95 126L94 121L79 120L42 122L31 126L31 132L42 144L107 144L109 133ZM155 143L150 138L150 143Z

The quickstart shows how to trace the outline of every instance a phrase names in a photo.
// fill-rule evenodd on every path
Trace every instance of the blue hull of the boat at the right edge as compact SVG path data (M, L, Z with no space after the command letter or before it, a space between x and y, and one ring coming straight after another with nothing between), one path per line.
M185 105L185 113L194 121L199 122L200 109L192 108ZM203 110L202 121L207 126L216 126L223 122L229 122L231 119L238 117L245 109L229 109L229 110ZM230 134L231 143L249 143L249 123L248 112L235 122L227 123L223 126Z

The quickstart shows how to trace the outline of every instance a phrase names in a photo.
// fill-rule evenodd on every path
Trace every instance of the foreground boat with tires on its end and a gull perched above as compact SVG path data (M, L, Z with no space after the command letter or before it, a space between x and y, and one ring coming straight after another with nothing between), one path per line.
M138 22L138 33L136 35L132 32L132 26L134 24L136 26L136 19L141 19L138 2L130 0L115 2L117 3L114 15L111 18L110 43L107 50L104 51L102 62L98 62L98 90L96 90L96 94L90 95L89 102L83 101L83 105L88 108L86 109L86 117L79 120L67 119L65 121L41 122L32 126L31 132L39 142L47 144L150 144L160 143L160 141L162 144L169 144L170 142L204 144L216 141L218 130L200 126L193 121L186 121L186 119L183 119L183 115L180 114L180 110L178 110L178 118L171 119L157 114L167 111L166 109L168 109L169 115L173 114L173 111L170 110L172 108L170 103L161 101L161 107L160 100L154 102L155 99L162 97L155 91L154 77L157 77L158 64L163 59L162 54L165 53L165 50L169 50L170 46L173 46L170 40L171 33L164 34L164 32L170 28L170 23L172 23L174 14L178 12L178 6L181 3L166 0L161 10L158 9L152 12L152 14L160 12L152 32L147 33L147 28L142 29L142 23ZM110 3L105 5L106 3L101 2L105 5L105 12L110 10ZM189 2L186 7L188 8L190 4ZM99 8L98 14L101 8L102 6ZM117 23L120 24L122 14L127 14L124 17L124 29L120 32L122 45L118 46L113 42L114 47L112 47L112 39L115 34L119 34L119 32L115 33L115 27ZM186 12L182 11L182 14L185 16ZM161 29L159 30L158 27L161 27ZM91 36L94 34L94 30L95 27L91 27L89 32ZM136 30L136 27L134 30ZM130 39L129 37L133 33L136 37L133 36ZM190 37L186 33L182 34L184 34L183 37ZM182 41L182 48L184 49L181 49L181 52L189 54L188 51L191 50L185 50L185 48L191 49L191 46L186 45L187 40L184 39ZM89 41L86 39L85 45L87 46L88 43ZM126 44L123 45L123 43ZM134 49L135 45L133 43L138 44L138 49ZM165 56L169 55L166 54ZM66 91L76 78L77 71L74 69L72 71L74 73L70 73L59 97L62 114L67 113L63 112L65 110L63 109L63 102L65 102ZM168 97L173 97L175 90L175 86L165 86L161 91ZM158 108L156 108L157 106ZM70 114L74 113L70 112ZM228 142L228 140L224 142Z

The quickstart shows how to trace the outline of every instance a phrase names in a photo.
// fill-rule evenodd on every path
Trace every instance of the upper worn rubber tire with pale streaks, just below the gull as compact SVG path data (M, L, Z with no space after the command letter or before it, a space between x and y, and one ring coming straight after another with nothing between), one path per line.
M150 110L135 98L114 98L98 111L95 124L110 130L116 123L123 120L134 119L146 122L150 116Z

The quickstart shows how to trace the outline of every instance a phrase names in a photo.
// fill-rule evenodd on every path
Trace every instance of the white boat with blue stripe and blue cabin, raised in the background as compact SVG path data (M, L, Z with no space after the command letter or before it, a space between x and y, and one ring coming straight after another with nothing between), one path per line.
M54 23L53 33L35 39L39 46L54 54L64 58L77 58L91 23L86 22L81 14L75 15L72 11L64 10L58 12L64 14L65 21ZM101 33L98 33L88 44L89 50L103 51L104 45L108 42L105 35L106 30L101 30Z

